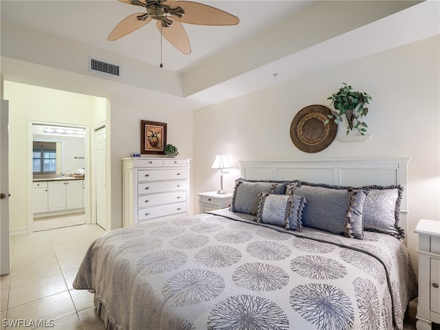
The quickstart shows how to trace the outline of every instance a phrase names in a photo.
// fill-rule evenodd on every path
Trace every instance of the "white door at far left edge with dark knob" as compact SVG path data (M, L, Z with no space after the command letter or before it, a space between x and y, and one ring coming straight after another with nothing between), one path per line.
M0 104L0 275L9 274L9 115L8 101Z

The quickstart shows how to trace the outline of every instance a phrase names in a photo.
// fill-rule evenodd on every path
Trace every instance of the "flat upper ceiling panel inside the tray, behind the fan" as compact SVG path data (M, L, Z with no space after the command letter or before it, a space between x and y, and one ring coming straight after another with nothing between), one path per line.
M235 26L184 24L192 52L184 55L163 39L162 62L168 70L185 72L187 67L197 61L248 39L315 1L199 2L230 12L239 17L240 23ZM117 0L1 1L1 19L159 65L161 38L155 21L117 41L107 41L107 36L114 26L135 12L145 10L140 6L128 5Z

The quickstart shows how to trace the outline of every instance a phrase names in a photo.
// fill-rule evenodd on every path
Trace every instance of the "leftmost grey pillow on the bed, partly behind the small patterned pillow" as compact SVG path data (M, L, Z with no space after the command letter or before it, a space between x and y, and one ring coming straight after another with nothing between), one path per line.
M285 181L253 181L236 179L230 210L256 215L261 192L285 194Z

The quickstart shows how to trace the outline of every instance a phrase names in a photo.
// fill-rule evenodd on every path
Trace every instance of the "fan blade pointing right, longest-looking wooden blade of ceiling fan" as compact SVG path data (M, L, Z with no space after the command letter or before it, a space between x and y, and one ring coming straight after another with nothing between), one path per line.
M175 1L173 5L170 5L170 8L178 7L185 11L183 17L175 17L182 23L198 25L236 25L240 21L238 17L228 12L211 7L210 5L204 5L203 3Z

